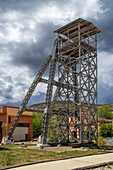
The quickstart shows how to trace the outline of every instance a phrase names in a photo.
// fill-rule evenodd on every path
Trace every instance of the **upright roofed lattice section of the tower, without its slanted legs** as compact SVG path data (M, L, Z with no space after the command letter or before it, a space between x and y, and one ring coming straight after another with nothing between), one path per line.
M71 138L80 143L98 139L96 35L100 32L93 23L81 18L54 31L58 34L59 40L59 71L61 73L61 68L64 69L64 72L66 69L68 70L67 84L71 84L70 80L74 79L73 75L75 76L75 82L73 81L75 89L67 89L67 92L59 93L60 99L61 94L65 98L68 96L68 100L61 99L67 105L67 108L63 108L65 116L61 110L59 111L59 133L67 142L71 142ZM67 81L66 78L64 80ZM61 92L63 92L64 89L61 88ZM69 103L72 97L70 94L73 92L75 93L74 107L72 103ZM66 103L67 101L68 103ZM71 110L73 110L73 114L70 116Z

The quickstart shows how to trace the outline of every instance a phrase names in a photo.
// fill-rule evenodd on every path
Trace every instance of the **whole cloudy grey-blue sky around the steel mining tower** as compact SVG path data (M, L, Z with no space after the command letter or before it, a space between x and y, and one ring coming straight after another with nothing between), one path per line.
M20 106L51 52L53 31L77 18L93 22L98 35L98 103L113 102L112 0L0 0L0 106ZM45 75L46 76L46 75ZM43 102L40 84L29 104Z

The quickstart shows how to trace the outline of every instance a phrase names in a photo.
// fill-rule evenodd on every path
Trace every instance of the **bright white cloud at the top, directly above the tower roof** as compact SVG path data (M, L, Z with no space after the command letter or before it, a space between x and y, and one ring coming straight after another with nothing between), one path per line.
M56 2L49 2L38 9L35 19L38 22L51 21L54 25L62 25L77 18L98 19L98 14L106 12L99 0L70 0L59 6Z

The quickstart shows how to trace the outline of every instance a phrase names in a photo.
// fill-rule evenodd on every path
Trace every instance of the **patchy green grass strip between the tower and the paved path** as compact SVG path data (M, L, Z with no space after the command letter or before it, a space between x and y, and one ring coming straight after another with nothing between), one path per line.
M1 148L2 146L0 146ZM6 145L5 155L4 151L0 150L0 168L25 164L27 162L38 162L40 160L52 160L52 159L62 159L69 157L76 157L81 155L91 155L99 153L99 150L90 151L47 151L37 149L20 148L20 145ZM9 156L8 156L9 155ZM7 161L8 160L8 165Z

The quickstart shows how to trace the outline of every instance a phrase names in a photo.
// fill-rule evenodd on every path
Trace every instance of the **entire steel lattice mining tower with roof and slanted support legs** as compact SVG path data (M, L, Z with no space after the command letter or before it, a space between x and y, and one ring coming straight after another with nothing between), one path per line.
M100 30L81 18L54 31L53 50L32 83L7 137L13 133L26 105L39 82L47 83L42 144L47 142L50 116L59 119L61 143L92 142L98 139L97 125L97 34ZM49 78L42 78L50 64ZM56 69L57 67L57 69ZM55 81L57 76L58 81ZM54 97L53 86L57 86ZM54 104L60 102L57 110Z

